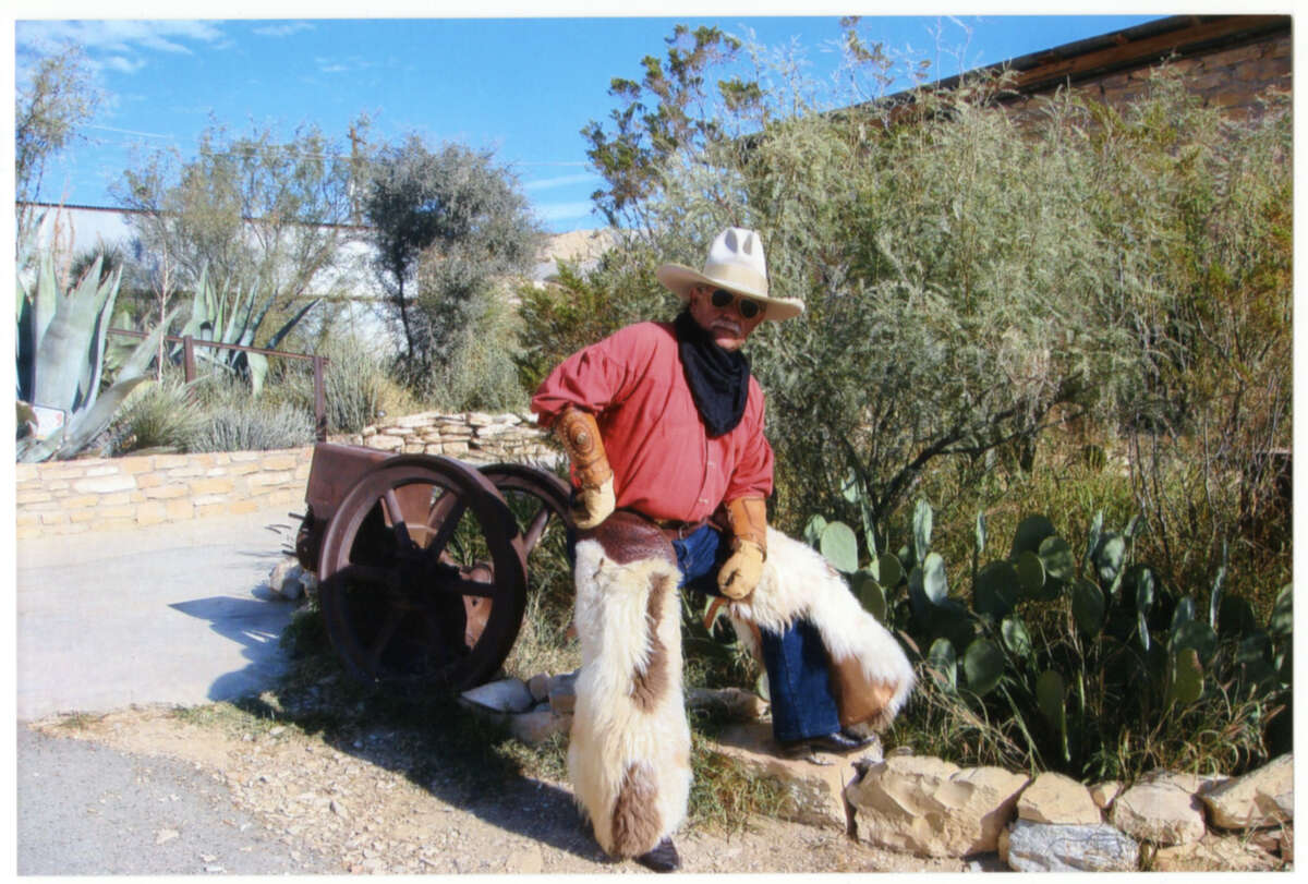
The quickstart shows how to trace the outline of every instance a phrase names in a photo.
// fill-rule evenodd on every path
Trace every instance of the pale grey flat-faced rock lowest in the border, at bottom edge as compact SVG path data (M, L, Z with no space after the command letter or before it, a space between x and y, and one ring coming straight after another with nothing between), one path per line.
M1050 825L1016 820L999 854L1015 872L1134 872L1139 845L1105 823Z

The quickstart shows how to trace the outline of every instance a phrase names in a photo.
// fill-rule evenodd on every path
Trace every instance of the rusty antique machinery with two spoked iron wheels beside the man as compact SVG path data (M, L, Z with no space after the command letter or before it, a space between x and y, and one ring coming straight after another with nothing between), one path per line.
M462 690L494 676L522 626L527 566L569 527L568 484L320 442L296 539L327 634L370 684Z

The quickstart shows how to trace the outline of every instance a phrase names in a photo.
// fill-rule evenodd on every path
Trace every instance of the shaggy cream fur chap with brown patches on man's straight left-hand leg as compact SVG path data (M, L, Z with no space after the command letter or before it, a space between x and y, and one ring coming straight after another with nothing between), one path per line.
M685 819L691 728L679 579L662 556L619 564L596 540L577 544L582 666L568 775L595 840L613 857L653 850Z

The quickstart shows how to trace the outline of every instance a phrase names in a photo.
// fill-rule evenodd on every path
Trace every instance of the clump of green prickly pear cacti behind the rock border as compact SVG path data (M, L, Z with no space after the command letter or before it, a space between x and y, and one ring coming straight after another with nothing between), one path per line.
M905 543L872 547L863 566L844 523L815 517L806 532L863 605L909 637L921 700L901 727L926 741L920 751L1078 778L1243 773L1288 751L1267 732L1288 715L1288 586L1258 617L1224 591L1223 566L1203 605L1137 560L1139 519L1110 530L1101 514L1075 548L1028 515L986 561L978 515L971 562L955 569L968 591L952 592L933 522L918 501Z

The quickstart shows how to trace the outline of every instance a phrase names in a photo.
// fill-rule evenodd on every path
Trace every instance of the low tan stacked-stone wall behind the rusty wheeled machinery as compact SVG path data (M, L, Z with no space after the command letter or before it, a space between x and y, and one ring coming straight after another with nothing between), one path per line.
M472 463L551 463L532 418L518 415L399 417L334 442ZM16 464L18 539L146 527L285 506L301 511L313 446L283 451L144 454Z

